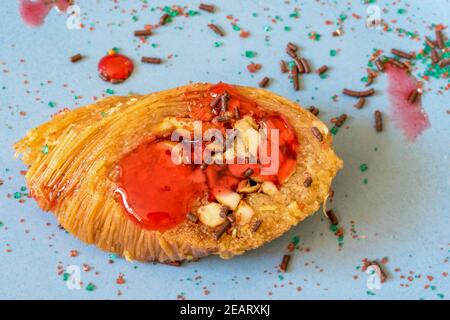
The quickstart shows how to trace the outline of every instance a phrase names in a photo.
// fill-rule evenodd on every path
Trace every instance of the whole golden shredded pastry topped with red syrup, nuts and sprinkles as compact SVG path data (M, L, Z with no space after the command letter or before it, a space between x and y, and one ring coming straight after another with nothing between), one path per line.
M234 132L243 148L204 140L208 129ZM265 158L252 149L263 138L277 142ZM15 149L31 195L68 232L130 260L173 262L242 254L316 212L342 167L331 142L293 102L220 83L106 98L56 115ZM194 161L197 151L219 163Z

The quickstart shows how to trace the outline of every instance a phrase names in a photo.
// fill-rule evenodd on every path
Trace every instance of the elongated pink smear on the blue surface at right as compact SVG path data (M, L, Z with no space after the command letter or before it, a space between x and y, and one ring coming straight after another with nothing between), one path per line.
M391 119L396 127L403 131L410 142L430 127L428 115L422 109L421 99L415 104L408 102L408 97L413 90L419 88L419 83L408 71L386 65L386 74L389 79L388 94L391 101Z

